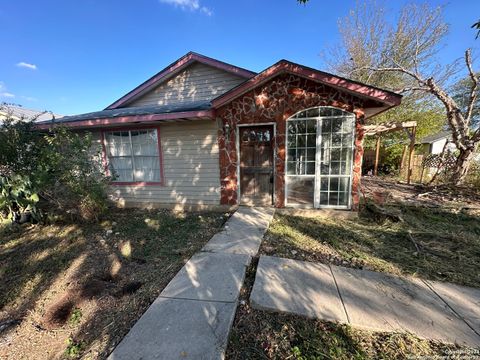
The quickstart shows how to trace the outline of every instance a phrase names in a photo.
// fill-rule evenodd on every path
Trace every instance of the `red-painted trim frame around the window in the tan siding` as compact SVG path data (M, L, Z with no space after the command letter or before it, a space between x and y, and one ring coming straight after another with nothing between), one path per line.
M163 152L162 152L162 143L160 136L160 126L158 125L145 125L145 126L136 126L136 127L113 127L113 128L104 128L101 129L101 141L102 141L102 161L105 174L110 176L110 162L107 154L107 140L105 134L112 131L137 131L137 130L156 130L157 131L157 146L158 146L158 161L160 168L160 180L159 181L116 181L111 180L110 185L140 185L140 186L164 186L164 169L163 169Z

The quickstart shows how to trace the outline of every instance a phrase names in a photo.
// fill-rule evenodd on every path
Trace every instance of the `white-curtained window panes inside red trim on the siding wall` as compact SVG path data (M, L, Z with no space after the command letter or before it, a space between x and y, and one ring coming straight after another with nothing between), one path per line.
M157 129L105 132L109 169L116 182L160 182Z

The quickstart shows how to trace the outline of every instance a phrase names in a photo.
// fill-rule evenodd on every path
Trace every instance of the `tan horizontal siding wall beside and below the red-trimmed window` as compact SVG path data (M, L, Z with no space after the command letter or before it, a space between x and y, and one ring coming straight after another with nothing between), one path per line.
M160 139L164 185L111 185L112 200L120 205L219 205L216 123L196 120L163 124Z

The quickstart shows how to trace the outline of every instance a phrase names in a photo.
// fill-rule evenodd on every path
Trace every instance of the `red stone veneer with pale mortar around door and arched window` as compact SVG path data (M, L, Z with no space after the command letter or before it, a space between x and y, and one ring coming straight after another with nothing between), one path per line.
M352 192L354 208L358 205L363 156L363 100L292 74L278 75L217 110L217 118L221 119L218 133L221 204L238 203L237 125L275 122L275 207L284 207L286 120L298 111L315 106L333 106L356 115ZM230 127L229 134L224 134L226 124Z

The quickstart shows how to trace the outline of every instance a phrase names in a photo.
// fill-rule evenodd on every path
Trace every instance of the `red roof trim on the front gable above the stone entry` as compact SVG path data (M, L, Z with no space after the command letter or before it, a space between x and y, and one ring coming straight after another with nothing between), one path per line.
M346 91L350 91L360 96L365 96L392 106L399 105L402 99L401 95L391 91L358 83L323 71L301 66L290 61L281 60L258 75L254 76L250 80L245 81L232 90L227 91L226 93L214 99L212 101L212 106L214 108L219 108L282 72L292 73L324 83L326 85L330 85L332 87L345 89Z

